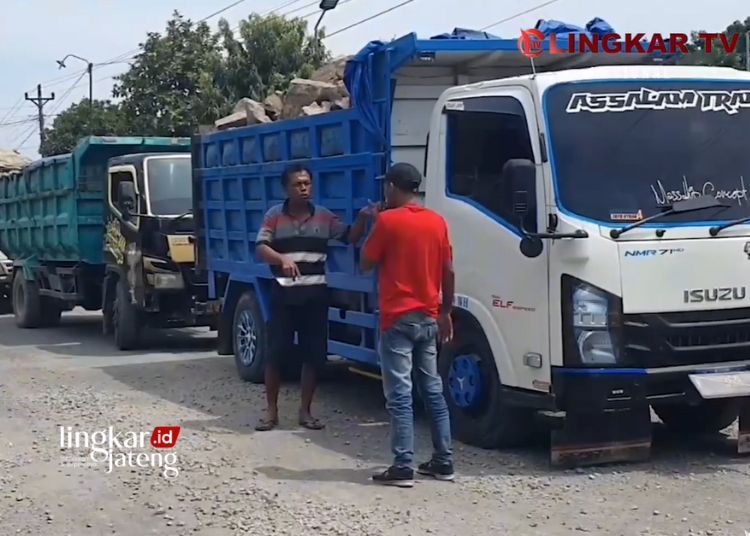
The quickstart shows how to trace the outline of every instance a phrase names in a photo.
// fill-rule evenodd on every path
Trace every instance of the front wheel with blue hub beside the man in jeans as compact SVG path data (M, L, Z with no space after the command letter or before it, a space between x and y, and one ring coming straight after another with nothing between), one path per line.
M455 333L441 349L438 366L456 438L485 449L528 443L534 432L532 413L504 400L484 333L465 324Z

